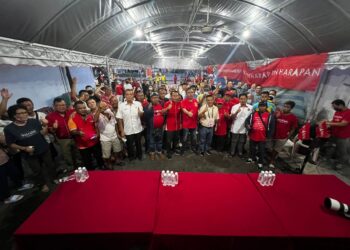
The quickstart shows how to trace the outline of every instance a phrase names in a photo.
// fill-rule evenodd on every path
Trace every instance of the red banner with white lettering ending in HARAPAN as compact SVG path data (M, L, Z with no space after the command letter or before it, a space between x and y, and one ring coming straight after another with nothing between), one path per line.
M327 57L327 53L285 57L255 69L250 69L247 63L218 65L218 77L226 76L263 87L315 91Z

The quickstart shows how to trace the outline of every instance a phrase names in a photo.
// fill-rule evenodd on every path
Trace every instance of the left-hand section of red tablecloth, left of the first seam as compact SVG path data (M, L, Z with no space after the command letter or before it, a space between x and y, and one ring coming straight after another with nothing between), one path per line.
M57 237L60 234L62 237L77 234L76 238L85 237L85 242L96 235L144 234L150 239L159 179L159 172L90 172L84 183L71 181L60 185L20 226L16 239L21 245L26 245L25 239L32 240L33 237L28 237L31 235L52 240L60 239Z

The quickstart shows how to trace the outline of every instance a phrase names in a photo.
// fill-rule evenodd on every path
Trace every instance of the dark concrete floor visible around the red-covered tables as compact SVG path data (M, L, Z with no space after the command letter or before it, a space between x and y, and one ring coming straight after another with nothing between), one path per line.
M302 158L293 159L282 155L284 160L279 160L276 164L276 173L295 173L293 169L300 166ZM244 159L238 157L228 157L226 154L214 151L210 156L197 156L187 153L184 156L173 156L171 160L151 161L144 157L142 161L135 160L127 162L123 167L115 167L116 171L120 170L174 170L188 172L218 172L218 173L250 173L258 172L254 164L247 164ZM336 172L329 167L314 167L308 165L305 168L306 174L335 174L343 181L350 184L350 174L345 176L343 173ZM52 189L54 191L54 188ZM0 249L13 249L13 232L33 213L33 211L50 195L41 193L39 190L29 190L23 192L25 198L16 204L0 204Z

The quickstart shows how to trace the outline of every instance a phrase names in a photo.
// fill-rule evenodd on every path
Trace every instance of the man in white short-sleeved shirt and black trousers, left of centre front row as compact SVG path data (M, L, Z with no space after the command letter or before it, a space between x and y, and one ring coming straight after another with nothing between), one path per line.
M134 101L133 90L125 91L125 102L121 103L117 112L118 127L123 140L126 139L129 160L132 161L136 157L142 160L141 147L141 117L143 116L143 108L140 102ZM136 155L134 150L136 146Z

